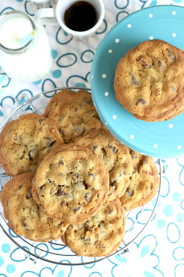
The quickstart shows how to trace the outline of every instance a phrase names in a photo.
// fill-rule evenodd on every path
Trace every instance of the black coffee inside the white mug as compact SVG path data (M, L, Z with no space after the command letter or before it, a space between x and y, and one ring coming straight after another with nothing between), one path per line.
M64 12L66 26L74 31L83 32L91 29L98 21L95 7L86 1L71 3Z

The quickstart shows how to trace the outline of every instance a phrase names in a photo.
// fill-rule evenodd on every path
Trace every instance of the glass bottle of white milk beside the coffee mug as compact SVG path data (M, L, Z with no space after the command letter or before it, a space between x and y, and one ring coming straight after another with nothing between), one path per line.
M19 11L0 16L0 66L12 80L41 80L52 63L48 35L39 21Z

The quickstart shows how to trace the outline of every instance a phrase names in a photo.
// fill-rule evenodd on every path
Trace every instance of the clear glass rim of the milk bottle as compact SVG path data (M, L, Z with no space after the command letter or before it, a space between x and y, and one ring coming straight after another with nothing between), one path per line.
M5 14L2 14L0 16L0 25L1 25L1 21L5 22L6 20L8 20L9 18L6 19L6 16L8 15L11 15L11 14L18 14L26 19L29 20L29 22L31 23L32 25L32 28L33 28L33 31L36 32L36 26L32 20L32 18L25 14L24 12L21 12L21 11L17 11L17 10L13 10L13 11L9 11ZM20 48L16 48L16 49L13 49L13 48L8 48L4 45L2 45L2 43L0 42L0 48L2 50L4 50L5 52L8 52L8 53L11 53L11 54L20 54L20 53L23 53L25 52L27 49L29 49L29 47L32 45L32 43L34 42L35 40L35 37L33 37L28 43L26 43L24 46L20 46Z

